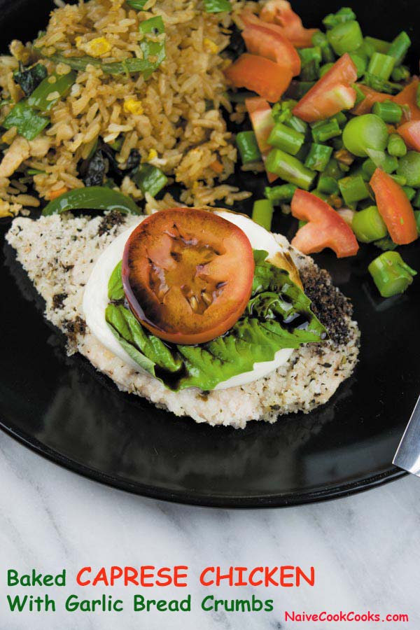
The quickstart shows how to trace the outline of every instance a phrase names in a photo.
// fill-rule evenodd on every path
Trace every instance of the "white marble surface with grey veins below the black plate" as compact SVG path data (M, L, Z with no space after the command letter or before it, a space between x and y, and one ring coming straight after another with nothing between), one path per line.
M209 510L161 503L99 485L63 470L0 433L1 630L419 630L420 479L405 477L367 493L287 510ZM121 613L17 614L6 605L6 570L36 568L69 582L81 566L190 566L193 612L135 613L134 589L78 589L123 596ZM197 574L204 566L300 564L316 567L315 587L213 589L218 596L274 598L270 613L203 612ZM21 589L23 590L23 589ZM144 592L145 589L139 591ZM151 598L181 589L147 589ZM50 589L61 603L63 589ZM137 592L139 592L137 591ZM153 591L153 594L150 592ZM158 592L159 591L159 592ZM163 593L162 591L165 591ZM211 591L211 589L209 589ZM10 592L10 591L9 591ZM16 591L17 593L18 591ZM41 590L42 592L42 590ZM406 612L408 623L292 623L283 610Z

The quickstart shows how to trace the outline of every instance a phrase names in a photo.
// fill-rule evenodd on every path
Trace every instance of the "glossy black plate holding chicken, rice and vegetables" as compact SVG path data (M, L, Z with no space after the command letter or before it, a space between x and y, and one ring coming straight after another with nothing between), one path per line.
M314 25L340 4L294 6ZM403 28L412 34L409 25L420 22L414 1L400 2L396 13L391 1L352 6L365 32L381 38ZM49 1L35 7L29 0L1 0L1 41L32 38L50 8ZM414 45L418 53L419 39ZM249 189L251 183L239 186ZM292 223L282 218L276 227L290 235ZM1 229L6 231L4 223ZM378 253L374 248L351 260L316 256L354 303L363 342L353 377L309 415L286 416L274 425L251 422L245 430L176 419L119 393L80 356L66 358L64 339L43 319L42 300L13 251L6 244L0 251L1 426L53 461L139 494L232 507L307 503L402 475L391 460L419 393L420 281L405 295L382 300L366 272ZM418 244L404 249L416 269L419 251Z

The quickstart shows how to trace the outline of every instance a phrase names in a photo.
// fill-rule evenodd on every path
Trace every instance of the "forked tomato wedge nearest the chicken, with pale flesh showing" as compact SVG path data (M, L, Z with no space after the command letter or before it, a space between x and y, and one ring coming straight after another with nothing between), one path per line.
M331 248L337 258L354 256L358 242L349 225L327 202L298 188L292 199L292 214L302 221L309 221L297 231L292 245L304 254Z

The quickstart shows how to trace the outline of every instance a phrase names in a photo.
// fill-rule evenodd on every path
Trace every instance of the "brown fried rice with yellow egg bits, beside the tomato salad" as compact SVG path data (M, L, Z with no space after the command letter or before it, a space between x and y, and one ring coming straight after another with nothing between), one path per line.
M237 159L223 116L232 112L223 73L230 60L223 50L244 0L232 0L232 13L218 14L206 13L199 0L148 0L141 11L123 0L58 4L34 43L13 41L11 56L0 57L0 120L25 96L13 80L20 63L40 61L48 73L65 74L69 67L48 57L90 55L104 63L141 58L139 24L155 15L165 24L166 58L147 79L142 73L111 76L100 65L87 65L68 96L52 107L51 124L36 139L25 140L15 127L4 132L0 216L37 207L38 197L50 200L83 187L78 164L99 137L106 143L123 139L117 155L123 167L137 149L141 162L181 185L183 203L233 204L248 197L223 183ZM27 177L27 169L38 173ZM120 190L135 200L144 196L128 176Z

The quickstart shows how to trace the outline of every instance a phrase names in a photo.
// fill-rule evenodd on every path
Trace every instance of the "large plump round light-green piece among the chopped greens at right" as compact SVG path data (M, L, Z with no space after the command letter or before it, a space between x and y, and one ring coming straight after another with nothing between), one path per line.
M384 151L388 144L388 129L384 121L374 114L351 118L343 130L342 139L347 151L358 158L367 157L367 149Z

